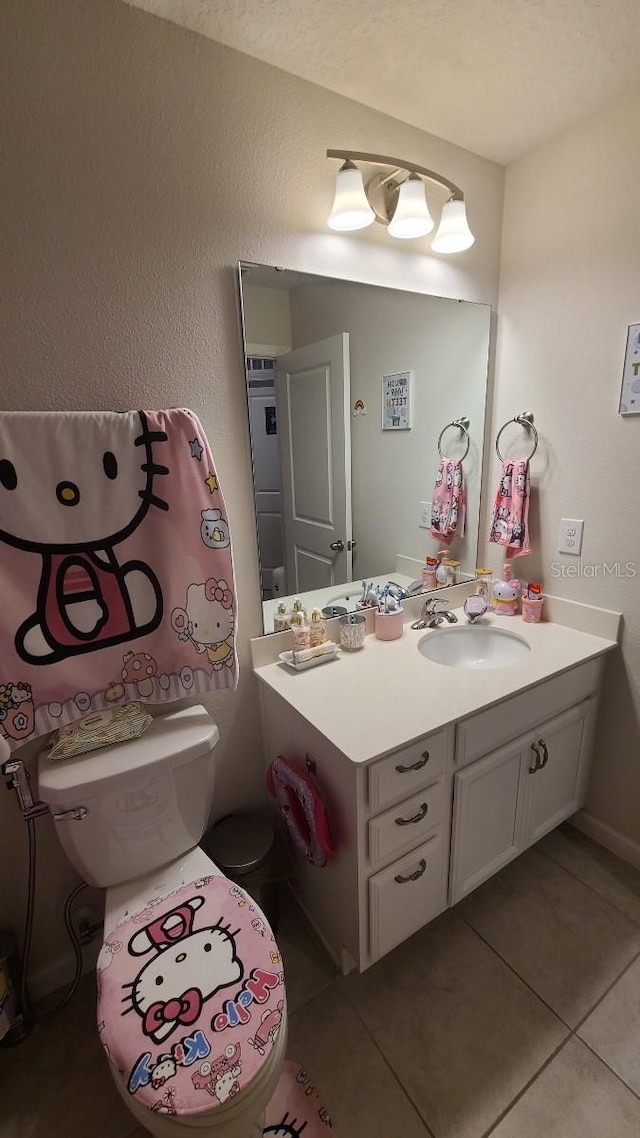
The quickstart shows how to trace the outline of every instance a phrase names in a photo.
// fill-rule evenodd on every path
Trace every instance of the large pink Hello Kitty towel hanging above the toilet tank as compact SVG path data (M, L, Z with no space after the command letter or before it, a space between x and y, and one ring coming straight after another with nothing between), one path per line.
M227 510L191 411L0 414L0 735L235 688Z

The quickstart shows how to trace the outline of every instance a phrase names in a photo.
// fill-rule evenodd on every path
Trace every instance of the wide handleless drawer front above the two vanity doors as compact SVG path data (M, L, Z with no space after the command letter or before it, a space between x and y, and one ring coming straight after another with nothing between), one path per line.
M582 703L597 690L600 667L600 660L589 660L560 676L545 679L522 695L514 695L486 711L462 719L456 735L456 766L467 766L545 719Z

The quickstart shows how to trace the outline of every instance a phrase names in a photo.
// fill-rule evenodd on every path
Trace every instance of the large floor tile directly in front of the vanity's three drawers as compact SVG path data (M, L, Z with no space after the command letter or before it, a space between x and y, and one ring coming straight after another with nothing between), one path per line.
M347 984L437 1138L479 1138L567 1034L452 913Z

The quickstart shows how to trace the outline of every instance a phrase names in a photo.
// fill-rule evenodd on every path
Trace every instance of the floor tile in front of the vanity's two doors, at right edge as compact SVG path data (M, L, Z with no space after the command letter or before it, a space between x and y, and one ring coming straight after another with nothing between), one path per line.
M640 951L640 927L530 850L457 912L571 1026Z

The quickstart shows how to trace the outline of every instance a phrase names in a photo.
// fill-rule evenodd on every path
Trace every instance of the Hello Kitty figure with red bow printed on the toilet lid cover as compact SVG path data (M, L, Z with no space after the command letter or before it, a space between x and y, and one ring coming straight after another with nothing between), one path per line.
M237 984L244 966L236 954L239 930L221 924L194 929L202 897L192 897L175 909L156 917L129 941L131 956L153 956L125 987L130 1006L142 1031L155 1044L169 1039L179 1025L190 1028L203 1005L223 988Z

